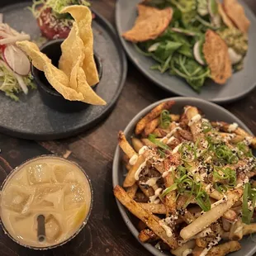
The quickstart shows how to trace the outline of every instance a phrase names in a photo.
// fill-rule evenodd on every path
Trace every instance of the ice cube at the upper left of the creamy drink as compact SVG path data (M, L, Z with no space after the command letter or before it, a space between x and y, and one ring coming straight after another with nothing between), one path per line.
M52 182L52 170L48 164L31 164L26 173L31 185Z

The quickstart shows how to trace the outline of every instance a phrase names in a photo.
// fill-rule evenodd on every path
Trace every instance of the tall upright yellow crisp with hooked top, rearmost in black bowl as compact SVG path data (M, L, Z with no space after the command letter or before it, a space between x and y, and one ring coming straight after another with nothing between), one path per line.
M61 13L69 12L78 24L78 33L83 40L83 71L90 86L99 82L97 67L93 55L93 35L92 35L92 12L88 7L73 5L64 7Z

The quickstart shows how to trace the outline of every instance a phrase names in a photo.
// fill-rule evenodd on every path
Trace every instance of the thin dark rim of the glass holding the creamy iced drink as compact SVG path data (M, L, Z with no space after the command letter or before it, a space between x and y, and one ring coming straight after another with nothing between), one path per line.
M13 173L15 173L17 171L17 169L21 168L22 166L29 164L33 161L35 161L36 159L44 159L44 158L55 158L55 159L61 159L64 162L69 162L70 164L74 164L75 166L77 166L82 173L84 174L85 178L88 181L89 187L90 187L90 192L91 192L91 202L90 202L90 206L88 209L88 214L87 216L84 218L83 223L80 225L80 227L78 228L78 230L76 232L73 233L73 235L71 235L68 239L65 239L63 242L61 242L60 244L54 244L51 246L46 246L46 247L36 247L36 246L30 246L27 244L22 244L20 241L16 240L15 238L12 237L12 235L8 232L8 230L6 229L6 227L4 226L3 222L2 222L2 218L0 216L0 225L2 226L2 230L4 231L4 233L10 238L12 239L12 241L14 241L17 244L20 244L23 247L29 248L29 249L35 249L35 250L47 250L47 249L54 249L56 247L62 246L66 243L68 243L70 240L74 239L85 227L85 225L87 225L89 217L92 213L92 206L93 206L93 188L92 188L92 182L91 179L88 177L88 174L85 172L84 168L82 168L79 164L77 164L76 162L70 161L68 159L64 159L61 158L59 156L56 156L55 154L42 154L40 156L36 156L34 158L31 159L27 159L26 161L24 161L23 163L21 163L20 165L18 165L16 168L13 168L12 171L10 173L8 173L7 177L4 179L4 181L2 182L1 185L1 191L2 188L5 186L5 184L7 183L8 178L10 178L12 176Z

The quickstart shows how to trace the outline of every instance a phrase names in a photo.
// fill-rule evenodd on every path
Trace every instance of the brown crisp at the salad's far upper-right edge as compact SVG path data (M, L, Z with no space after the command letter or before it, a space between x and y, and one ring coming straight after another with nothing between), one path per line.
M249 30L250 21L245 16L244 7L242 7L237 0L224 0L223 7L230 20L235 23L244 34Z

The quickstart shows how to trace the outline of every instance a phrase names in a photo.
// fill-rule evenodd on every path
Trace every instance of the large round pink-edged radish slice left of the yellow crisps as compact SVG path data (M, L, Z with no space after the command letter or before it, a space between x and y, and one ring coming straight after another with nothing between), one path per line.
M31 63L26 54L14 45L7 45L3 50L3 59L17 74L26 76L31 71Z

